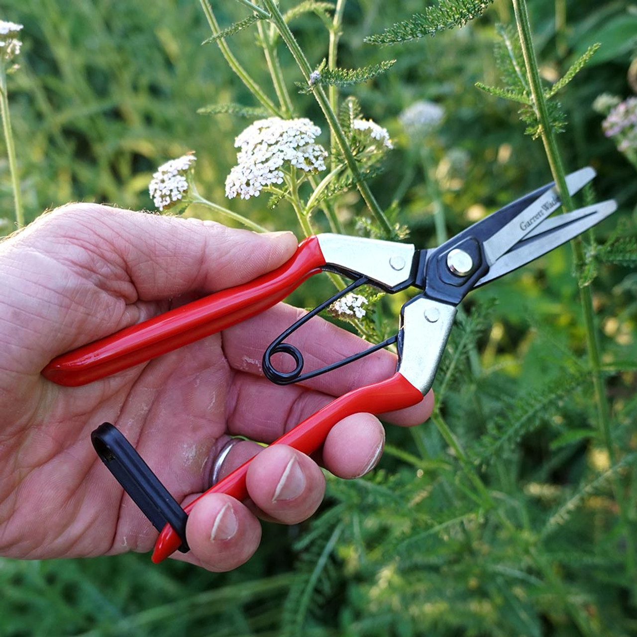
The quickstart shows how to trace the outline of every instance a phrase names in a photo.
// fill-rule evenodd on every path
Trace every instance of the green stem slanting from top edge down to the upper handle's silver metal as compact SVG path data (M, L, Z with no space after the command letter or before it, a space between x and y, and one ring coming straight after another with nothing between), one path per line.
M301 73L303 73L305 81L308 82L309 84L311 68L310 68L310 63L307 61L303 53L303 50L301 50L301 47L299 47L299 43L297 43L296 38L294 38L294 35L292 34L292 31L290 31L289 26L287 25L285 20L283 20L283 16L281 15L281 12L278 10L278 6L276 6L275 0L264 0L264 3L266 4L266 6L268 7L268 10L271 13L272 21L276 25L276 28L278 29L278 32L281 38L283 39L283 41L289 48L290 53L292 54L292 57L294 57L294 60L299 66L299 69L301 69ZM347 142L347 138L345 137L345 132L343 132L343 129L341 128L341 125L338 122L338 118L336 117L336 113L334 113L333 108L331 108L329 104L325 91L323 90L321 86L317 86L312 92L318 102L318 105L323 111L323 114L325 115L327 122L329 123L330 129L334 132L334 135L336 136L336 140L338 141L338 145L341 149L341 152L345 156L345 162L347 163L347 167L350 169L352 175L354 176L357 182L357 186L358 186L359 192L361 192L362 198L364 199L365 203L368 205L368 208L371 211L371 213L374 215L374 217L376 217L376 220L378 220L378 223L382 226L382 229L385 232L385 234L387 236L391 236L392 227L389 223L389 220L387 220L387 217L385 217L385 213L383 213L382 208L380 208L380 206L378 205L378 202L376 201L371 190L369 189L368 183L366 183L362 179L361 171L359 171L359 167L354 157L354 154L352 153L352 149L350 148L350 145Z

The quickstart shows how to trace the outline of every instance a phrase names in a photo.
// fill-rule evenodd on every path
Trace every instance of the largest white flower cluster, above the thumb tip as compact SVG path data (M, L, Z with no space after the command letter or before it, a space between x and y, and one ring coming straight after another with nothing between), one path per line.
M250 199L266 186L283 183L281 168L286 163L306 173L325 170L327 152L315 143L318 135L320 128L307 118L257 120L234 140L241 150L225 180L225 196Z

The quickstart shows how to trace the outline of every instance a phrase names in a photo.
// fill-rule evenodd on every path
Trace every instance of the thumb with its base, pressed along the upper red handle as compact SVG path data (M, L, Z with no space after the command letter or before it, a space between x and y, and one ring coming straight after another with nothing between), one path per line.
M120 283L127 278L142 301L233 287L277 268L297 247L292 233L259 234L211 221L96 204L64 206L44 224L66 235L68 244L88 248L85 259L91 263L83 266L104 271L103 264L108 264L108 278ZM96 256L102 264L94 263Z

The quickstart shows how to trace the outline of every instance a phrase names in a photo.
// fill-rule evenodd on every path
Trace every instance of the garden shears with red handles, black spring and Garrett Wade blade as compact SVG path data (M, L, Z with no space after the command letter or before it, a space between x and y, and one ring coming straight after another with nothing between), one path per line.
M592 168L582 168L568 175L569 193L578 192L595 174ZM557 187L549 183L431 249L420 250L404 243L340 234L310 236L299 244L289 261L271 273L61 355L42 373L61 385L90 383L253 317L282 301L310 276L333 271L353 282L304 315L271 343L263 357L265 375L282 385L303 382L389 343L396 343L399 362L396 373L390 378L334 399L273 443L290 445L311 454L322 445L330 429L348 415L358 412L381 414L420 402L433 385L457 306L471 290L546 254L617 210L617 204L611 199L551 217L560 206ZM374 285L390 294L408 287L415 287L419 292L403 305L396 336L347 359L304 373L303 354L285 339L334 299L361 285ZM294 361L292 371L280 371L273 364L273 356L281 353ZM141 478L130 478L128 482L120 480L133 499L139 504L134 496L139 496L140 489L146 487L145 497L155 504L170 500L171 496L165 489L161 491L163 487L156 478L150 484L155 476L135 456L132 447L124 452L123 447L117 445L117 440L104 438L96 444L96 449L101 452L104 462L112 461L119 454L115 463L117 469L111 468L118 480L117 472L142 475ZM243 464L206 493L223 492L240 500L246 499L245 478L249 464L250 461ZM131 469L133 465L134 470ZM148 492L152 494L148 496ZM154 562L161 562L177 549L187 550L185 520L195 502L182 509L173 500L172 517L164 515L155 519L148 515L148 507L140 505L161 531L152 556Z

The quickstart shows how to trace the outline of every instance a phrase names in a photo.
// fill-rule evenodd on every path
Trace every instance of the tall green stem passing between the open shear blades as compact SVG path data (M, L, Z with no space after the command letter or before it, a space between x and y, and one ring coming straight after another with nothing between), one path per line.
M573 199L569 195L568 187L566 186L566 171L564 169L561 153L555 138L555 130L552 127L550 117L548 116L547 100L541 86L540 71L538 69L538 61L536 59L535 50L533 48L531 24L529 22L526 0L513 0L513 10L515 11L515 20L517 22L518 33L520 36L520 45L522 46L522 54L524 55L524 63L526 66L527 77L529 79L529 88L531 90L531 95L533 96L533 104L536 115L540 122L541 138L547 154L548 163L555 183L557 184L564 210L573 210ZM581 270L584 261L582 240L577 239L575 241L571 241L571 245L573 247L575 265L579 271ZM614 465L616 463L616 456L610 429L610 407L606 397L604 377L601 372L601 355L599 353L598 334L594 321L592 292L590 291L589 286L580 289L580 301L582 303L586 329L589 362L592 369L592 380L598 412L599 429L601 430L603 440L605 441L606 451L608 452L610 462ZM631 540L631 534L629 531L629 516L626 499L618 476L613 478L613 491L615 492L615 498L619 504L622 526L624 526L627 548L626 573L632 582L636 582L635 574L637 555L635 554L634 542ZM633 589L633 597L637 599L637 587L634 587Z

